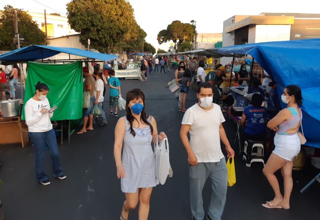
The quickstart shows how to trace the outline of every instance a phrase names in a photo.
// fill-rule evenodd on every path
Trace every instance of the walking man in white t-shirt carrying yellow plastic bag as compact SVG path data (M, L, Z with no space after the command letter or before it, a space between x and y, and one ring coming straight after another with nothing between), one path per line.
M234 156L225 129L220 106L213 104L213 88L210 83L198 86L199 102L183 116L180 130L181 141L188 153L191 213L193 220L204 219L202 190L207 178L212 189L207 220L220 220L226 203L228 175L226 159L221 151L220 140L228 157ZM190 134L190 142L188 140Z

